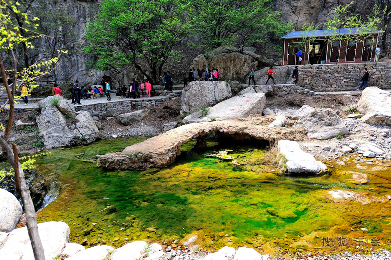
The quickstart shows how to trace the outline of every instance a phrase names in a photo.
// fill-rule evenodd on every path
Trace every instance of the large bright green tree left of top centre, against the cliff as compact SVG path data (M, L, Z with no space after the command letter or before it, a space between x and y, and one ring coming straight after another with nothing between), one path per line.
M86 33L91 65L112 72L134 65L153 82L169 58L179 59L173 48L191 28L191 6L181 0L104 0L100 11Z

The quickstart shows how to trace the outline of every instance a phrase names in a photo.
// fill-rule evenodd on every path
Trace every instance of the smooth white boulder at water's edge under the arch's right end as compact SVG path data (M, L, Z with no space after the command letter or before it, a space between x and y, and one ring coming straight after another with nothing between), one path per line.
M318 173L322 170L314 156L302 151L295 141L280 140L277 148L277 159L287 173Z

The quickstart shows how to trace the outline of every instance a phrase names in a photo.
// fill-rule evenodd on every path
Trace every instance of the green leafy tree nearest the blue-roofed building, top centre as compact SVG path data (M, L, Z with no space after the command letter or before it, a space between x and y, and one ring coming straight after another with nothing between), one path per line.
M194 31L208 49L266 43L291 28L282 21L280 12L272 10L270 0L194 0L192 5L197 6Z

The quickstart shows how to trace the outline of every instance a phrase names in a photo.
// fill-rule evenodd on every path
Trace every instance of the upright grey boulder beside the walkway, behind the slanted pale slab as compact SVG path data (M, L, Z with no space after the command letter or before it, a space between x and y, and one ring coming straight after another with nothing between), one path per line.
M192 81L182 91L180 113L194 112L231 97L225 81Z

